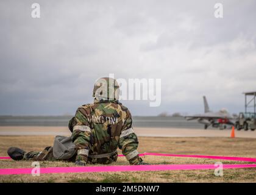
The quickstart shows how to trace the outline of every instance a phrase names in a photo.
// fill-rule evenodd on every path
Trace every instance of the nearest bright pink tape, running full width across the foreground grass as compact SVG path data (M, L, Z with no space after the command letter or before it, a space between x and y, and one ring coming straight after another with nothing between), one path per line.
M223 165L224 169L256 168L251 165ZM31 174L33 168L0 169L0 175ZM167 171L216 169L215 165L139 165L139 166L83 166L83 167L49 167L40 168L40 174L66 172L118 172L118 171Z

